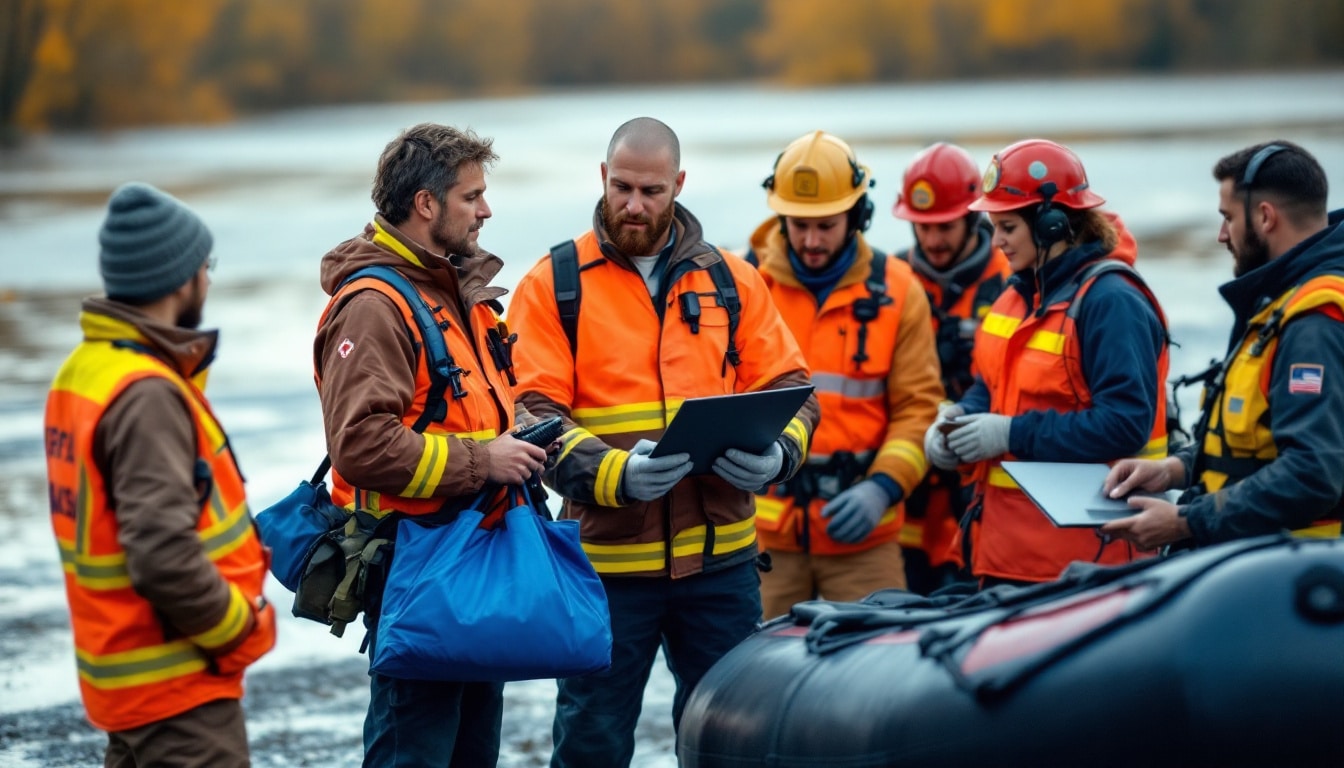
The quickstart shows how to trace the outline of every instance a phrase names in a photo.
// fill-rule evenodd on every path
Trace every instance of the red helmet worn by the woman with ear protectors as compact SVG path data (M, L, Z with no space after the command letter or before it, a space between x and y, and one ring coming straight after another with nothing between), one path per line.
M985 169L981 195L970 203L970 210L1015 211L1043 203L1047 196L1051 203L1074 210L1095 208L1106 202L1087 188L1087 171L1073 149L1044 139L1028 139L995 155Z

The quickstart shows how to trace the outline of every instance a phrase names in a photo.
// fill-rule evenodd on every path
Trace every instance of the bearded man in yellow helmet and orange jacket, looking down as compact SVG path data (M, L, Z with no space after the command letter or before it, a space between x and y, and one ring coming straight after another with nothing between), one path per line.
M910 265L864 239L872 172L839 137L814 130L765 180L777 214L751 235L775 307L812 369L821 424L788 483L757 496L773 569L765 616L798 601L857 600L906 585L903 500L927 465L923 432L943 395L929 300Z

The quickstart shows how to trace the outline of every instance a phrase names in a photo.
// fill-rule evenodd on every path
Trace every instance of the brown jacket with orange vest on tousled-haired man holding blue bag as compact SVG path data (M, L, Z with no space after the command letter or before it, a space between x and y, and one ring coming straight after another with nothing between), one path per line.
M429 253L380 215L323 258L323 288L332 299L313 342L314 378L332 457L332 500L343 507L380 518L470 500L489 472L485 444L515 424L513 387L487 346L505 293L489 280L503 262L484 252L454 258L457 264ZM376 278L341 286L371 265L391 266L415 286L461 369L461 397L445 393L444 413L433 414L423 433L411 426L429 399L429 355L410 308ZM487 525L503 512L503 499Z

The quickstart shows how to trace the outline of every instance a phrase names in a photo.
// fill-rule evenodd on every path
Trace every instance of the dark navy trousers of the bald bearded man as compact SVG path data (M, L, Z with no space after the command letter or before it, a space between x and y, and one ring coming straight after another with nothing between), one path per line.
M552 768L626 767L659 646L676 694L672 726L704 673L761 617L755 561L685 578L602 577L612 611L612 667L559 681Z

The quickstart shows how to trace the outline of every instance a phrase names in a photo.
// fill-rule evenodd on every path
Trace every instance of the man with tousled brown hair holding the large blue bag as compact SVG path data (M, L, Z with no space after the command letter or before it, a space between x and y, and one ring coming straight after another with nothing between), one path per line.
M512 335L499 317L505 291L489 285L503 261L476 243L491 217L485 169L495 160L491 141L469 130L406 129L379 159L374 221L323 258L332 300L313 355L340 506L379 518L433 514L485 483L520 484L546 461L546 451L508 434ZM442 398L429 395L425 343L406 300L379 280L349 280L375 265L409 280L442 328L453 371ZM487 511L501 514L503 500ZM370 658L376 621L366 613ZM501 683L370 678L364 765L495 765Z

